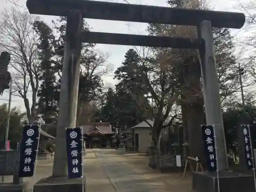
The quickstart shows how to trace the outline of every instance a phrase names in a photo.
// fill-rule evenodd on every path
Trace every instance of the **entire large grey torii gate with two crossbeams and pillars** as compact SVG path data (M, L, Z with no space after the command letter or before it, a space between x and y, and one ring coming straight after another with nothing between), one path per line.
M245 23L242 13L188 10L179 8L144 6L97 2L88 0L28 0L31 14L67 16L66 45L63 60L61 93L54 157L53 175L41 180L34 190L76 190L81 191L81 180L67 182L67 155L65 127L76 124L76 108L79 83L79 65L81 42L96 44L114 44L129 46L150 46L180 49L198 49L200 52L203 95L207 124L215 124L217 136L217 154L220 172L220 187L238 191L238 185L247 177L226 172L228 161L226 142L221 114L219 86L216 69L215 48L212 27L240 29ZM82 31L82 18L120 20L125 22L158 23L170 25L196 26L199 38L158 37ZM227 180L222 178L229 178ZM234 180L238 179L240 182ZM66 184L63 182L66 181ZM215 182L214 182L215 181ZM51 185L47 186L47 182ZM45 185L43 186L43 184ZM249 182L251 183L251 182ZM63 187L65 186L66 187ZM232 187L231 187L232 186ZM249 184L253 189L253 182ZM73 187L73 188L71 188ZM75 187L75 188L74 188ZM230 188L231 187L231 188ZM244 187L244 185L243 185ZM193 188L200 191L216 191L215 174L194 174ZM224 189L224 188L223 188ZM234 190L236 189L236 190ZM225 188L225 191L229 191ZM253 191L248 189L247 191Z

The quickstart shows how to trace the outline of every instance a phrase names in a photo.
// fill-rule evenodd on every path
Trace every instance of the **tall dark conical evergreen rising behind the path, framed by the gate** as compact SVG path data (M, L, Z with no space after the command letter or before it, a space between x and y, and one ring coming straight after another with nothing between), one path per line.
M141 73L141 58L134 49L128 50L124 57L122 65L115 71L115 78L120 80L116 84L115 107L121 129L152 119L151 106L145 97L149 92Z

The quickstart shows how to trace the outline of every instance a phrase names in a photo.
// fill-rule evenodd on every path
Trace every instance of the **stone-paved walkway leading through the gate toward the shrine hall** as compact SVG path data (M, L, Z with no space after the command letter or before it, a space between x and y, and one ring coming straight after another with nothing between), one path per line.
M122 150L94 150L118 192L190 192L191 179L182 173L160 174L147 167L148 158ZM89 191L90 192L90 191Z

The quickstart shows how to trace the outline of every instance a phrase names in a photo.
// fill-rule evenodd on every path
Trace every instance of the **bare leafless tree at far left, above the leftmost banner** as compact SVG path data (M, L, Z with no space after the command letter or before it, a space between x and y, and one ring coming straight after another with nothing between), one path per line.
M5 10L2 16L5 23L0 27L0 47L11 54L14 89L23 98L28 120L32 121L39 87L38 37L33 30L34 18L15 8Z

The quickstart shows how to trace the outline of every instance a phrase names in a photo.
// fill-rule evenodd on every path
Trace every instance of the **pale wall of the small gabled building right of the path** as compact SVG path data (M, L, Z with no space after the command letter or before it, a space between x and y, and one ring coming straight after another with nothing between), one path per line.
M139 152L145 153L152 141L150 128L136 128L135 134L139 134Z

